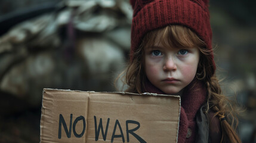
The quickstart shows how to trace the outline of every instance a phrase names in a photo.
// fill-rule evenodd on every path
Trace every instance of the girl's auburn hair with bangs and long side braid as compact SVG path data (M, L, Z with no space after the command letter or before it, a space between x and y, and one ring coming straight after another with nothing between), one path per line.
M144 47L155 44L156 37L161 36L159 43L164 46L175 48L198 47L200 58L196 78L205 83L207 90L207 109L214 111L215 116L226 116L226 120L221 121L222 138L221 142L241 142L236 128L238 120L236 119L236 111L232 108L229 99L221 93L221 88L217 77L215 76L214 64L212 61L211 49L206 48L203 42L192 30L180 25L169 25L162 29L153 30L144 36L140 46L134 51L129 66L123 71L119 77L124 77L122 81L128 85L126 92L139 93L144 89L146 83L146 74L144 71ZM235 123L236 119L236 123Z

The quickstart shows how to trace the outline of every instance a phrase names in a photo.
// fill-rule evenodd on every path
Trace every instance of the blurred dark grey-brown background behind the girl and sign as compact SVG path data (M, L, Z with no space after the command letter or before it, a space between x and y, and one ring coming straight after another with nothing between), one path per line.
M221 86L256 142L256 1L210 1ZM0 1L0 142L39 142L43 88L116 91L127 65L127 0Z

